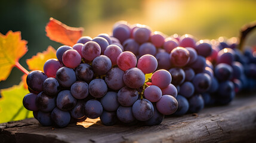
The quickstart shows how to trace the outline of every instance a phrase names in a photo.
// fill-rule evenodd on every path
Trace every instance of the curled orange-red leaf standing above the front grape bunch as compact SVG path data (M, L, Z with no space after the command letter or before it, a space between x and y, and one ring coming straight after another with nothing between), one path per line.
M69 46L75 45L78 39L81 38L83 31L82 27L69 27L53 17L50 18L49 23L45 27L48 38Z

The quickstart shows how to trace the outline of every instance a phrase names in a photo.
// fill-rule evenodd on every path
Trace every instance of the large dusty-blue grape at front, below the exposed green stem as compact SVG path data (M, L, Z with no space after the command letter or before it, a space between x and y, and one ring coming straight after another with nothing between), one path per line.
M154 113L153 104L146 99L140 99L132 105L132 114L139 121L149 120Z

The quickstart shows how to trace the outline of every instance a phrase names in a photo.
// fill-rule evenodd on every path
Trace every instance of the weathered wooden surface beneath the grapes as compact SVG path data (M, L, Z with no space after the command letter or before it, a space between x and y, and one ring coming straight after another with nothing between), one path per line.
M256 95L198 114L165 117L161 125L104 126L87 120L66 128L41 126L35 119L0 124L0 142L256 142Z

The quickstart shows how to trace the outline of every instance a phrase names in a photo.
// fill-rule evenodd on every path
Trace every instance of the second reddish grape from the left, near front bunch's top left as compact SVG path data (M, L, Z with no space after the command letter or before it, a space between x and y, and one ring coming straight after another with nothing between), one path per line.
M66 67L75 68L81 63L81 55L75 49L68 49L63 53L62 62Z

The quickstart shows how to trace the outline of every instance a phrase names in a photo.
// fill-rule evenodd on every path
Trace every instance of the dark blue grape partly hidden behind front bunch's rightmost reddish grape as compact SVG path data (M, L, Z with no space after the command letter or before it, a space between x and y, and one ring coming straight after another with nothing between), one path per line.
M174 115L181 116L187 113L189 110L189 101L182 95L177 95L176 100L178 101L178 109L175 111Z

